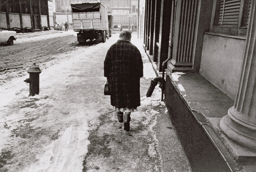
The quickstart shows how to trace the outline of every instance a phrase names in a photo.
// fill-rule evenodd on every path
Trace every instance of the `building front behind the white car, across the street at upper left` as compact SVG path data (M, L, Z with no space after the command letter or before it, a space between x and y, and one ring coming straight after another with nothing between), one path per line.
M52 0L0 0L0 28L17 32L53 29Z

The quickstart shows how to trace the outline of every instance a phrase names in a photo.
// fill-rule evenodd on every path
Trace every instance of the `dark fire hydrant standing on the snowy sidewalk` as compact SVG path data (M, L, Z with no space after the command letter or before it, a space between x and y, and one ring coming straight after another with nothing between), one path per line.
M24 82L29 83L29 96L35 96L39 94L39 74L42 71L35 63L31 65L27 71L29 78L25 79Z

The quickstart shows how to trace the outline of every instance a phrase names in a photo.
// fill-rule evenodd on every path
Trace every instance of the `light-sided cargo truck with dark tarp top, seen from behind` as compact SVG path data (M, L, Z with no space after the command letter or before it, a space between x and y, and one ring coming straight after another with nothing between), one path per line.
M107 7L99 1L71 3L73 29L77 41L82 44L87 39L106 42L109 38Z

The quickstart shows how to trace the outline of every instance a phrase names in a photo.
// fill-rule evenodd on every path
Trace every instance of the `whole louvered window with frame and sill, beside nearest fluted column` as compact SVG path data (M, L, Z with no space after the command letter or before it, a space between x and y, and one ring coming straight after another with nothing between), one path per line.
M245 36L250 16L251 0L216 0L211 31Z

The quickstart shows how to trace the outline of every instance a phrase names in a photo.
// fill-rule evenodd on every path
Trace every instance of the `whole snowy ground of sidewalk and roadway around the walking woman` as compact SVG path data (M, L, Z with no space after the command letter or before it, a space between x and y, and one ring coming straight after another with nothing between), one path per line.
M0 46L0 171L191 172L141 40L141 106L123 130L104 96L103 62L119 34L79 45L72 31L20 34ZM29 66L39 65L40 93L29 97ZM159 123L162 120L162 123ZM163 125L164 124L164 125ZM166 134L167 133L167 134Z

